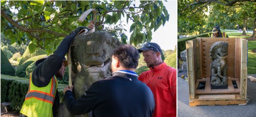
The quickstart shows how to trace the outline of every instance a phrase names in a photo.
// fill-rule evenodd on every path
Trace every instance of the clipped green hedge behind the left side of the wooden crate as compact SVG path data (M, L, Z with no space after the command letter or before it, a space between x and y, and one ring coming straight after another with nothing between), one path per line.
M186 50L186 41L189 41L189 40L192 40L192 39L196 39L197 37L210 37L210 35L211 35L211 33L203 33L203 34L196 35L196 36L190 36L190 37L178 39L178 42L177 42L178 58L181 57L181 52Z

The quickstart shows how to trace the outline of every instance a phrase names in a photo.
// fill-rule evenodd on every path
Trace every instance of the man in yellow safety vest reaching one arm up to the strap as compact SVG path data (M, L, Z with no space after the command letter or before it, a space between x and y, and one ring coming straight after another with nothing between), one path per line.
M20 111L20 117L56 117L59 104L56 78L64 76L65 66L68 65L64 56L68 52L73 38L82 29L92 30L94 28L92 23L88 27L80 26L72 31L61 41L52 55L35 62L36 68L30 76L29 89Z

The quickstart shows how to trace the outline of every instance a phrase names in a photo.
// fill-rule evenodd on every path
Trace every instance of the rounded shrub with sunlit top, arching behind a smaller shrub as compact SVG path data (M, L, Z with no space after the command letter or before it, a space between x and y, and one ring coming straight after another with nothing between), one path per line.
M32 63L34 63L35 61L37 61L38 59L43 58L44 56L46 56L46 55L34 56L34 57L28 59L27 61L25 61L21 66L18 66L18 68L17 68L17 70L16 70L16 73L15 73L16 76L29 78L30 72L28 72L28 73L26 74L26 72L27 72L27 67L30 66L30 65L31 65ZM32 66L31 66L31 67L32 67ZM33 71L34 68L35 68L35 66L32 67L32 68L30 68L28 71L31 71L31 69L32 69L32 71ZM32 72L32 71L31 71L31 72Z

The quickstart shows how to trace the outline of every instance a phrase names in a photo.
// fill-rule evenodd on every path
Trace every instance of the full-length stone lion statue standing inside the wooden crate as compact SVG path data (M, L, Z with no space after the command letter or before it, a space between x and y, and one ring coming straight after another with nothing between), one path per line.
M211 84L215 86L226 85L227 78L227 59L229 43L217 41L213 43L210 50L211 64Z

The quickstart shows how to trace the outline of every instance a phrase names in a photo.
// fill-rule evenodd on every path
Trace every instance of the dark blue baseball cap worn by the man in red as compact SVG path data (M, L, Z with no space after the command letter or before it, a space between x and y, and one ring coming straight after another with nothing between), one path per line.
M142 45L142 48L138 49L139 53L141 53L142 51L149 51L149 50L152 50L155 52L159 51L161 54L163 54L162 49L156 43L146 43L146 44Z

